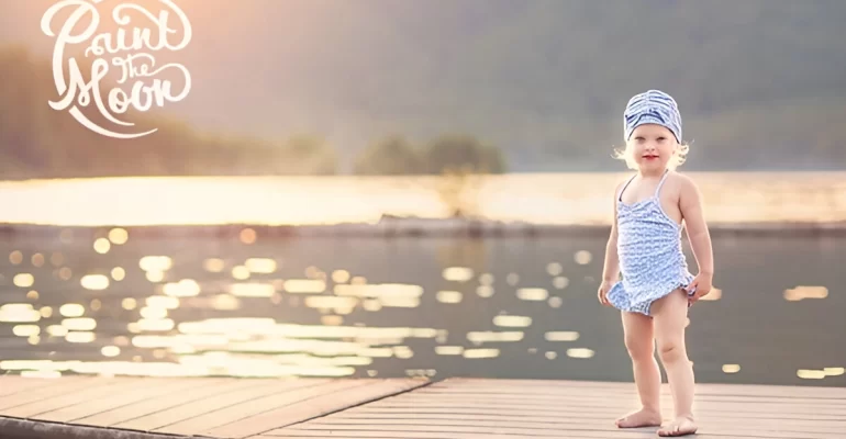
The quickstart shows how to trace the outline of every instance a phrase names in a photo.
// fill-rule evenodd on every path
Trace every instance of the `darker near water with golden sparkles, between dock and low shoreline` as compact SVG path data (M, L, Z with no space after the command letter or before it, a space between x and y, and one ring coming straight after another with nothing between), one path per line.
M8 237L0 369L631 380L619 314L595 300L603 236L246 235ZM846 384L843 240L715 238L719 288L688 326L698 380Z

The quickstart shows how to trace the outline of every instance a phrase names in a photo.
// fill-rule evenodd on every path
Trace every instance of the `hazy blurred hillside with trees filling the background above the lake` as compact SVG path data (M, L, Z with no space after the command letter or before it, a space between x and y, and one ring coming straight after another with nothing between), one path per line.
M396 145L456 138L453 164L619 170L623 105L647 88L681 105L686 169L846 168L844 1L255 2L221 59L186 54L197 98L140 140L80 130L46 105L47 60L0 48L2 177L432 172L449 164ZM297 19L296 41L274 24Z

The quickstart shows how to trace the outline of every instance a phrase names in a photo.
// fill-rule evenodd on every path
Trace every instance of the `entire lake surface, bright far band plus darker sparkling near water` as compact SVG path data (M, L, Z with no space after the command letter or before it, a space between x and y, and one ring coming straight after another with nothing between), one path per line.
M846 218L843 172L693 176L715 225ZM445 217L456 206L500 221L606 225L610 193L625 177L0 182L0 223L57 225L0 235L0 370L628 381L620 315L595 300L606 232L479 239L126 232L374 223L383 214ZM846 385L846 238L724 233L714 235L714 251L719 290L691 308L688 328L698 380Z

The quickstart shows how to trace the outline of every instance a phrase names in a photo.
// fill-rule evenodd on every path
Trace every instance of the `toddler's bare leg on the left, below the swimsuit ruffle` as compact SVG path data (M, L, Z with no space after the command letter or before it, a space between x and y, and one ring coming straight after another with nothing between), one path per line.
M655 360L653 319L639 313L623 312L623 331L643 407L617 419L616 425L620 428L659 426L661 372Z

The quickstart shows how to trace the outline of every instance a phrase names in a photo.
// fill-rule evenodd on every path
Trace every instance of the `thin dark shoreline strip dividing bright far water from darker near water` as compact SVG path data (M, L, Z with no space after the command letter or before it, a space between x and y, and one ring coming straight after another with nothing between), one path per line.
M553 237L606 236L610 225L602 224L531 224L465 218L388 218L377 224L341 223L327 225L201 224L201 225L46 225L0 223L0 236L59 238L63 232L74 237L93 236L112 228L123 228L132 238L194 237L237 239L242 230L252 229L258 238L286 237ZM768 236L846 236L846 222L830 223L712 223L712 235Z

